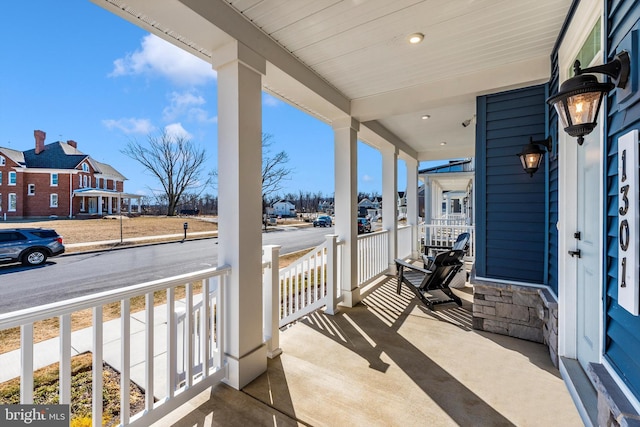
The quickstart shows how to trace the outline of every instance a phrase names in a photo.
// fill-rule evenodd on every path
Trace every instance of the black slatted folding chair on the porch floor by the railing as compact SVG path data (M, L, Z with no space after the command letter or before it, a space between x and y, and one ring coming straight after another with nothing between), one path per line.
M429 270L396 259L398 294L404 283L431 310L436 305L446 303L462 306L462 300L449 288L449 283L463 266L462 257L464 251L461 249L441 252L436 255L433 267Z

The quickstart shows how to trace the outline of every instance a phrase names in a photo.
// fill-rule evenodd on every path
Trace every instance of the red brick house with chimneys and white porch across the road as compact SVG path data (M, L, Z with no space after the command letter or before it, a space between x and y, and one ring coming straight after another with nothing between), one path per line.
M78 150L75 141L45 145L45 132L34 131L35 147L17 151L0 147L0 217L28 218L102 215L119 212L126 178L115 168Z

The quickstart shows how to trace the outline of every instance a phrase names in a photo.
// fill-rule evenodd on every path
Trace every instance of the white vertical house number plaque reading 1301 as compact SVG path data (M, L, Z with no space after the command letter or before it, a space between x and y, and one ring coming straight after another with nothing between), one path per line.
M638 315L638 131L618 139L618 305Z

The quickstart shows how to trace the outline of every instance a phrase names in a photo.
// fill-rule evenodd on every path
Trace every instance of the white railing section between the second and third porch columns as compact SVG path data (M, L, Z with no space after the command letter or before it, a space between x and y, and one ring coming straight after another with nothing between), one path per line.
M389 268L389 231L358 236L358 286L364 286Z

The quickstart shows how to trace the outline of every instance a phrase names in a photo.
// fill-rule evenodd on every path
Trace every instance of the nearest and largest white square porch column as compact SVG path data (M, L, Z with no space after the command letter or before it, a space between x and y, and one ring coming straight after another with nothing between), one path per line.
M241 389L267 369L262 339L262 75L264 58L238 41L215 52L218 72L218 264L225 290L226 382Z

